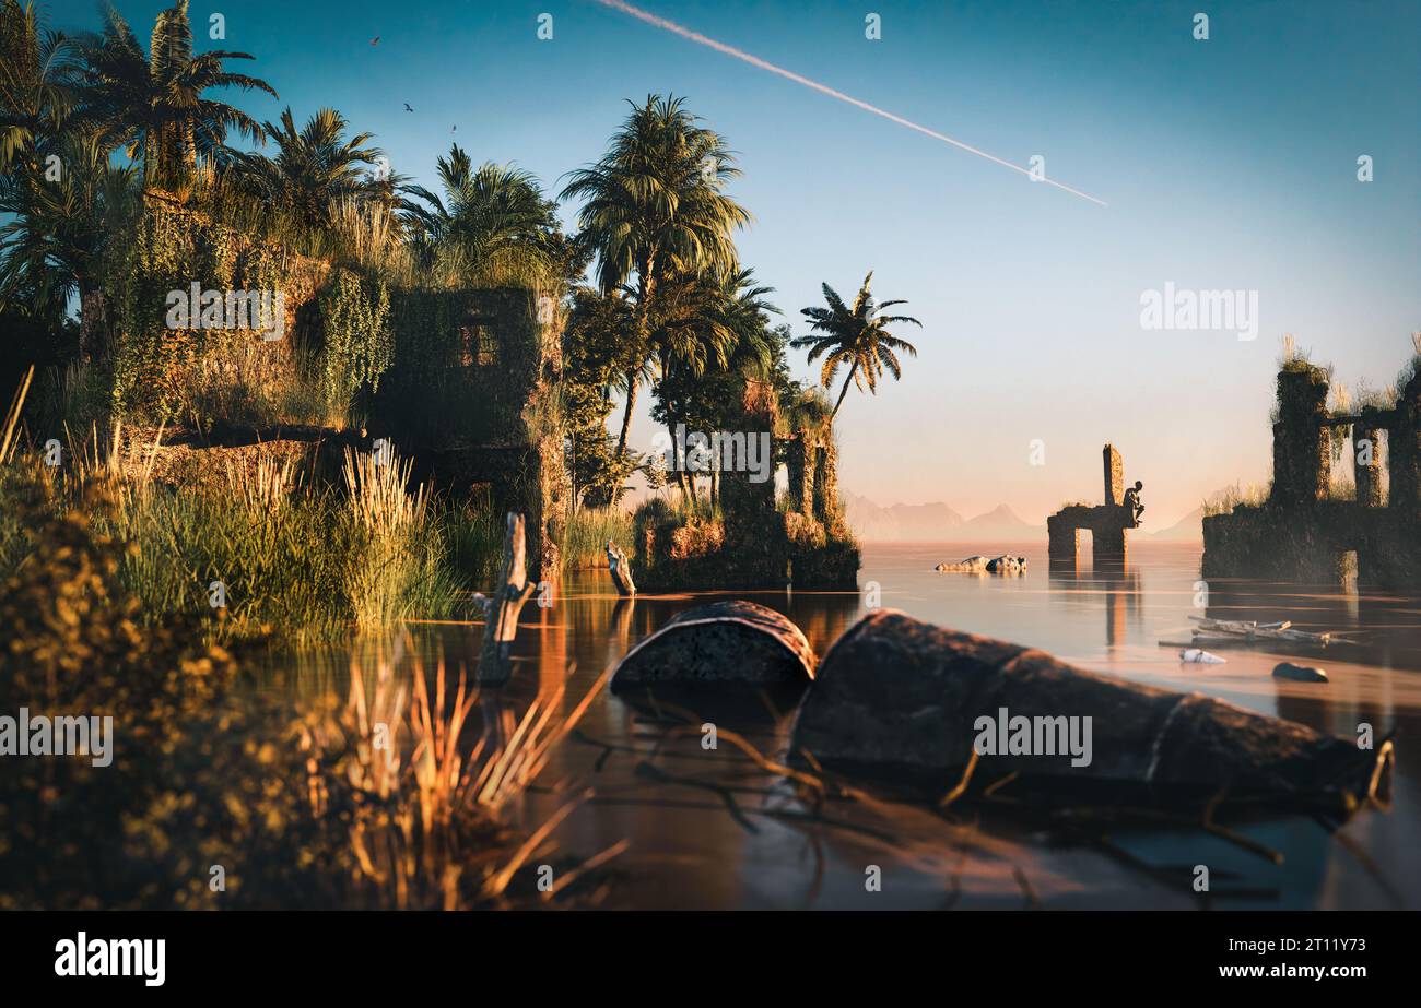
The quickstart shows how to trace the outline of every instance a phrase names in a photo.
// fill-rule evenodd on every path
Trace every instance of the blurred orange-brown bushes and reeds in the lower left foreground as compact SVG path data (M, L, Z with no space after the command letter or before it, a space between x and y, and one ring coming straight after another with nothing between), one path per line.
M625 848L554 853L577 795L531 832L503 815L605 673L568 714L561 687L514 716L462 680L450 689L442 663L431 690L418 662L406 674L381 663L368 691L355 666L344 708L291 710L200 646L195 620L136 632L118 576L128 549L97 528L124 521L111 474L92 471L77 507L55 514L53 474L3 469L34 551L0 579L0 708L112 717L124 769L21 760L0 774L13 839L0 909L534 906ZM531 865L554 856L557 884L541 892ZM227 870L222 889L213 865Z

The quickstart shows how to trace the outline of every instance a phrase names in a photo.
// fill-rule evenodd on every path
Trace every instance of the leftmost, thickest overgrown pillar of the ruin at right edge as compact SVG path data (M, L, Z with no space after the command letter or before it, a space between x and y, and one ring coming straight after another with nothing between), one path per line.
M1277 372L1270 503L1303 507L1327 497L1331 444L1326 420L1327 372L1312 365Z

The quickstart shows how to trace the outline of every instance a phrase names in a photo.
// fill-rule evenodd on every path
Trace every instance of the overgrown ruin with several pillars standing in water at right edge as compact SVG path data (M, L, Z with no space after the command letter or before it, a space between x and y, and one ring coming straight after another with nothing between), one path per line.
M1204 576L1403 588L1421 581L1421 372L1391 407L1327 409L1327 371L1277 373L1273 487L1260 505L1204 520ZM1385 432L1390 500L1384 488ZM1350 439L1356 500L1330 495L1333 439Z

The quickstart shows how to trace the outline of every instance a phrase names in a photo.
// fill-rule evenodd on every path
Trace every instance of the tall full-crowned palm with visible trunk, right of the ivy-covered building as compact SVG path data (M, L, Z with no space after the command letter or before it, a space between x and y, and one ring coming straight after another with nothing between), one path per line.
M722 189L740 172L725 138L698 125L682 98L648 95L632 105L595 165L573 172L563 199L585 199L578 213L581 240L597 253L597 280L612 291L635 274L631 339L651 355L651 319L662 277L728 274L736 268L732 231L749 212ZM637 403L638 369L625 376L618 454L627 450Z

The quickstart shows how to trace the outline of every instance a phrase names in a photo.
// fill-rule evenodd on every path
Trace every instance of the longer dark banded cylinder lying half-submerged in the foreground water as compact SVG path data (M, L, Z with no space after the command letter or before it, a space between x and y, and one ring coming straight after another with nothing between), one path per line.
M1393 762L1390 743L1361 751L1198 693L1100 676L891 610L861 619L824 656L790 744L794 758L809 752L938 795L975 748L975 788L1019 772L1010 789L1043 802L1198 806L1223 794L1343 815Z

